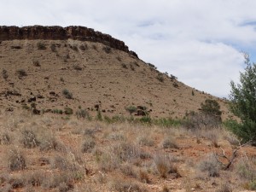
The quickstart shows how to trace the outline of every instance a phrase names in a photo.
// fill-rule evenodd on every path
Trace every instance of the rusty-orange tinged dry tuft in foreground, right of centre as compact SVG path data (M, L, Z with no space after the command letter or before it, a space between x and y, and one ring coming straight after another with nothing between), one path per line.
M154 165L160 177L166 178L170 173L177 173L177 167L171 163L170 157L163 154L157 154L154 157Z

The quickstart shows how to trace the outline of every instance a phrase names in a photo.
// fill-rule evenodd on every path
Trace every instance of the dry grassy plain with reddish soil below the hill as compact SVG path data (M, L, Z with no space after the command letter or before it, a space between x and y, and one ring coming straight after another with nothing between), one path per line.
M0 119L4 115L0 113ZM0 191L229 191L222 186L224 181L230 189L254 189L255 149L244 149L248 164L240 161L241 153L230 171L221 170L210 155L212 144L204 131L197 143L195 133L177 127L109 124L47 114L17 117L0 121L0 132L11 138L9 144L0 145ZM33 134L27 136L24 130ZM227 148L228 154L232 145L218 131L218 145ZM25 136L26 145L20 143ZM34 141L38 144L30 144ZM163 148L164 142L168 147Z

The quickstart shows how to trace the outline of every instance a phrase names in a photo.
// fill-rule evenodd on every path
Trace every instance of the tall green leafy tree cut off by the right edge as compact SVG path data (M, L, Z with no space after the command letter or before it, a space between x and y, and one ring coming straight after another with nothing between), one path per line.
M231 81L230 111L241 119L233 121L230 130L243 142L256 142L256 63L245 55L245 72L240 73L241 84Z

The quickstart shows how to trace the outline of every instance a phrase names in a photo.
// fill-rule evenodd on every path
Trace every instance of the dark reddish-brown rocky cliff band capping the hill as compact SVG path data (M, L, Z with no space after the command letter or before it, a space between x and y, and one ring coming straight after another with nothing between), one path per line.
M65 40L68 38L99 42L137 57L137 54L130 51L123 41L84 26L0 26L0 41L14 39Z

